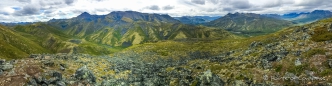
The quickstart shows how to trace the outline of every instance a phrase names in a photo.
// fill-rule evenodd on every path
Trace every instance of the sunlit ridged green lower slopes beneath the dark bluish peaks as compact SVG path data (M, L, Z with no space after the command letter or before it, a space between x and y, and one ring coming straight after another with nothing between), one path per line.
M184 24L136 22L125 28L128 28L128 31L123 35L121 35L119 29L105 28L87 36L86 40L112 46L130 46L160 40L237 37L225 30Z

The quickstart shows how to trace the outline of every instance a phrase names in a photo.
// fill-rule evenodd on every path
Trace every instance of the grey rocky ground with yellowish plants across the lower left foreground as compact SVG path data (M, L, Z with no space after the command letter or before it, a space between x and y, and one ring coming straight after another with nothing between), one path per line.
M198 58L190 58L198 59ZM225 85L211 70L194 75L180 67L188 60L89 56L84 54L34 54L21 60L1 60L1 86L159 86ZM176 67L179 66L179 67ZM168 67L174 67L168 69ZM195 67L195 66L193 66ZM202 67L195 67L202 69Z

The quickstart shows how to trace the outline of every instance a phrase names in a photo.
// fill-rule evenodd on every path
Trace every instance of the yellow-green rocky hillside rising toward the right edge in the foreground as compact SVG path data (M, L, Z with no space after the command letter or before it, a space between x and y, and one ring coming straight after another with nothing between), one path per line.
M211 70L223 80L255 80L266 82L263 77L292 76L320 77L325 80L297 83L272 80L274 85L316 85L331 82L332 18L311 24L284 28L268 35L243 39L164 41L132 46L120 55L140 55L154 58L185 61L181 67L199 74ZM200 67L199 69L192 67ZM169 67L167 71L175 67ZM202 70L202 69L203 70ZM314 75L308 75L313 72Z

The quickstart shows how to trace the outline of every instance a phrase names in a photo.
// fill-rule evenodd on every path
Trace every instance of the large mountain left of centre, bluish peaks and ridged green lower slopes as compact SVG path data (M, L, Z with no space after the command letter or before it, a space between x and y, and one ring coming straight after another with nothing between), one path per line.
M235 37L224 30L181 24L168 15L133 11L108 15L82 13L72 19L51 20L48 25L62 28L67 35L87 41L124 47L160 40Z

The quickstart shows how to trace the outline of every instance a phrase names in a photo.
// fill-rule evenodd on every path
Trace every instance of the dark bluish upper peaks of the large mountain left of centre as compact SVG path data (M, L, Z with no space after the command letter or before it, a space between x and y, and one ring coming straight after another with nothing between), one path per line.
M84 37L92 34L102 28L112 27L122 29L124 32L128 28L123 26L132 26L133 22L146 21L153 23L179 23L169 15L147 14L134 11L116 11L107 15L90 15L82 13L72 19L53 19L48 23L52 26L62 28L69 35Z

